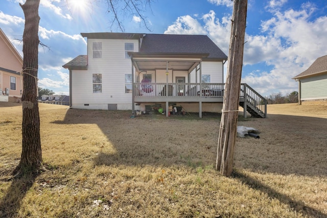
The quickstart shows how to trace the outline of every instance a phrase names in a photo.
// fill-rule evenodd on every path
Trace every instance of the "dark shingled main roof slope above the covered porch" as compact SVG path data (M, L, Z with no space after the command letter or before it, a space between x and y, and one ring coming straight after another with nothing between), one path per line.
M209 53L203 59L227 59L219 47L205 35L146 34L140 53Z

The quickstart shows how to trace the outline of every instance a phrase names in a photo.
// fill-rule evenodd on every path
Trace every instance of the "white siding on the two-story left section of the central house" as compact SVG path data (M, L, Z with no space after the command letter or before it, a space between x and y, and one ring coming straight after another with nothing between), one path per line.
M88 39L87 53L92 54L93 42L100 41L102 58L88 59L87 70L72 70L72 107L107 110L108 104L118 104L118 109L125 105L124 108L130 110L132 95L125 93L124 84L125 74L132 73L132 62L125 59L125 42L134 43L136 49L138 40ZM93 93L93 74L102 75L102 93Z

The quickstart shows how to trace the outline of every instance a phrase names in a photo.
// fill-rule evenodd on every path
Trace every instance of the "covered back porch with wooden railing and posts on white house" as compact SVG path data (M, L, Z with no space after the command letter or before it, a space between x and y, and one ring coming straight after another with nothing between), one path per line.
M204 102L222 102L223 84L207 84L201 80L202 58L209 54L128 54L132 60L133 114L135 103L162 102L166 103L168 111L170 102L194 102L199 103L201 117L202 97ZM212 98L214 96L216 98ZM206 97L211 100L205 99Z

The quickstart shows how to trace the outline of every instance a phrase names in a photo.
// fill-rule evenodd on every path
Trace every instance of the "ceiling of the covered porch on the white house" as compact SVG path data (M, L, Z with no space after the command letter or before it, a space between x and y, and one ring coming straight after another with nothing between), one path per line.
M166 69L191 72L209 54L144 54L129 53L136 71Z

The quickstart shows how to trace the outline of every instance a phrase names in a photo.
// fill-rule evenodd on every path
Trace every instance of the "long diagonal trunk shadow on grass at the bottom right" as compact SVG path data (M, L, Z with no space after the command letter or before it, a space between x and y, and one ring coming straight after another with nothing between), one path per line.
M276 199L279 202L289 205L293 210L298 213L302 213L303 216L309 216L314 218L325 218L327 214L322 213L312 207L306 206L304 202L294 201L290 197L284 195L283 193L277 192L276 190L270 188L269 186L263 184L259 180L249 177L241 172L233 172L234 178L239 179L243 184L250 186L253 189L259 190L261 192L267 193L270 199Z

